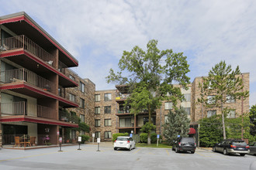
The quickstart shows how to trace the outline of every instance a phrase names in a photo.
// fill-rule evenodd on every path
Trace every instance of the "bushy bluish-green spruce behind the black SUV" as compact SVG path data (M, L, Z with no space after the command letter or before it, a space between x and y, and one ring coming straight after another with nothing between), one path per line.
M166 138L169 145L177 139L177 136L187 137L189 133L189 118L186 111L176 109L175 113L171 110L168 113L168 118L164 122L164 138Z

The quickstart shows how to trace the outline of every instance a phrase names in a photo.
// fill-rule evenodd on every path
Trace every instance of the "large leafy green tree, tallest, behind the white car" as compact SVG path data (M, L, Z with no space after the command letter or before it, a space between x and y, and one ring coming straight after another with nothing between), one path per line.
M186 87L189 83L189 64L183 53L173 53L171 49L160 51L157 40L147 43L147 51L135 46L131 52L123 52L119 60L119 72L109 70L106 77L108 83L126 84L130 87L130 97L126 100L126 107L130 106L131 113L138 114L147 110L149 121L147 127L152 126L151 114L160 107L161 100L168 100L177 104L177 100L184 97L180 88L173 83ZM127 75L127 76L126 76ZM170 95L167 95L167 94ZM150 131L147 144L150 144Z

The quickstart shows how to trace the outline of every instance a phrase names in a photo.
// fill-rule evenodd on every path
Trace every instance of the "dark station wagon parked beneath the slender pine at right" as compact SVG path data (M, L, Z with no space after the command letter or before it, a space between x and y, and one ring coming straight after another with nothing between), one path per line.
M223 152L224 155L240 154L241 156L244 156L250 152L250 149L243 140L227 139L213 145L213 151Z

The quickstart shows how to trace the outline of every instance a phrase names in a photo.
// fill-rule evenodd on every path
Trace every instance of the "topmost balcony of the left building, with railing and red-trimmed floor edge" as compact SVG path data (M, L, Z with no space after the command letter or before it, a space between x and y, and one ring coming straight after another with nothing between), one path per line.
M8 57L10 61L19 63L20 66L36 73L40 72L44 75L57 73L62 87L78 86L78 83L63 73L64 68L67 67L64 63L60 61L56 63L54 56L26 36L0 39L0 57ZM58 64L61 66L57 66Z

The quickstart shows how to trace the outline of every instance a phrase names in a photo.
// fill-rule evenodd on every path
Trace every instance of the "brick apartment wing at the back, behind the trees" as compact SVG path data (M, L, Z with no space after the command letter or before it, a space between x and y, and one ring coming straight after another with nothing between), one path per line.
M244 81L243 90L249 91L249 73L243 73L238 76ZM195 77L195 80L188 85L188 90L180 87L185 100L178 102L178 107L183 107L191 120L191 131L189 133L194 135L196 139L196 131L199 124L198 121L202 119L202 117L211 117L216 114L221 114L220 108L206 108L197 102L200 97L199 82L202 83L202 77ZM178 85L175 86L179 87ZM108 93L110 93L108 90L95 92L95 133L102 134L106 131L111 131L112 133L128 132L129 134L140 134L141 127L148 121L147 111L142 111L140 114L134 115L130 113L129 107L124 107L125 100L130 95L128 87L126 86L119 85L116 86L116 90L111 90L111 100L108 100L108 103L106 103L104 97L107 97ZM113 98L115 96L116 100ZM106 114L102 112L102 109L107 105L112 106L112 111L109 112L106 117ZM249 112L249 98L247 97L244 100L228 100L227 104L224 104L224 107L226 106L233 108L233 110L230 110L230 114L228 114L229 118L239 117L242 113ZM113 108L116 108L116 110ZM157 127L155 133L163 135L164 128L162 125L171 109L173 109L171 102L163 101L161 107L152 113L152 122ZM111 127L106 128L103 121L108 117L111 117L112 125ZM116 122L116 124L113 124L113 122ZM98 137L99 136L102 140L106 140L105 135L98 135Z

